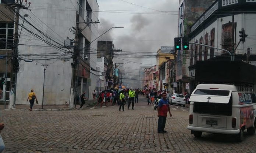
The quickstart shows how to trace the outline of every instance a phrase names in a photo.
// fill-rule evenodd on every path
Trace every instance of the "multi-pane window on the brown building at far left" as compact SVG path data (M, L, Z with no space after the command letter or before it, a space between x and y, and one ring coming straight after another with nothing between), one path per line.
M13 48L14 23L0 23L0 49Z

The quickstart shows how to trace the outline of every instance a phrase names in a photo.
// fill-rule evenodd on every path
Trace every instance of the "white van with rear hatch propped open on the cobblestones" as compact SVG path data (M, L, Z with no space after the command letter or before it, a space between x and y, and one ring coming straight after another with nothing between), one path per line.
M189 99L188 129L195 137L202 132L232 134L241 142L247 130L255 135L256 97L234 85L200 84Z

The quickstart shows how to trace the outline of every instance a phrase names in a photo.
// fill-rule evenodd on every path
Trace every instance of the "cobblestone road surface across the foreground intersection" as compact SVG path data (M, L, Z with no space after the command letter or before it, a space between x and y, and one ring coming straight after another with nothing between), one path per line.
M75 111L1 111L6 153L14 152L256 152L256 136L237 143L230 136L186 129L188 108L172 105L166 134L157 133L157 112L139 98L135 110L117 105Z

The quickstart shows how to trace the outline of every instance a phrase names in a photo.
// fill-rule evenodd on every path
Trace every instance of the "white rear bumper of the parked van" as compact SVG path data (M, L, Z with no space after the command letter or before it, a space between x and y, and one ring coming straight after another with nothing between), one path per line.
M207 128L207 127L195 127L188 125L188 130L192 131L200 131L200 132L208 132L208 133L219 133L219 134L238 134L240 129L237 130L225 130L218 128Z

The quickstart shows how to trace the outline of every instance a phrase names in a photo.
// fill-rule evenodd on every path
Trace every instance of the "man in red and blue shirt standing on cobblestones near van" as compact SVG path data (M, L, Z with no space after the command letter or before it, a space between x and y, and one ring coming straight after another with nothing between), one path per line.
M170 105L168 100L166 99L167 94L163 93L162 98L158 103L157 111L158 111L158 128L157 132L158 133L166 133L164 130L165 124L166 124L166 117L167 117L167 111L169 112L170 116L171 111L170 111Z

